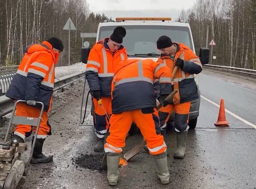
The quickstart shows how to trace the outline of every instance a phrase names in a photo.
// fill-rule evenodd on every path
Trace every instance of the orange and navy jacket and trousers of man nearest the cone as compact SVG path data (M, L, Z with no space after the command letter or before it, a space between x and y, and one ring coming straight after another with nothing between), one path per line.
M191 101L198 99L198 89L195 82L195 74L202 71L202 64L195 53L182 43L174 43L176 53L174 57L161 56L157 62L163 63L173 71L177 58L184 60L184 66L178 68L172 81L172 88L178 92L173 97L173 102L159 110L161 129L165 129L170 114L174 114L174 128L176 132L184 132L189 129L188 115Z

